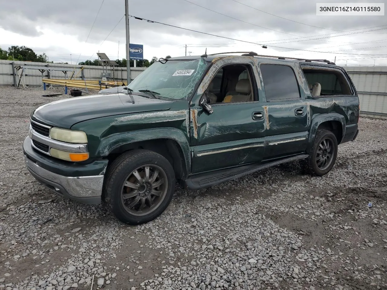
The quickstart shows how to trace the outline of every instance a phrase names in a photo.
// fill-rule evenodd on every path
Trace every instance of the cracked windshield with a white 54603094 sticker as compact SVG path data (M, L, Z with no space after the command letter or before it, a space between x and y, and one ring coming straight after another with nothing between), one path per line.
M203 59L156 61L128 87L135 92L152 94L157 99L187 100L207 66Z

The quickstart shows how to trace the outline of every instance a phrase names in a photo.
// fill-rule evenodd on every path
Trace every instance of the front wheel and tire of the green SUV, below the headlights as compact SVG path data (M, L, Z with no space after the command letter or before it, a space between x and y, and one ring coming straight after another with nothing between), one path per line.
M161 215L175 191L175 172L162 155L132 150L109 166L104 183L105 203L120 221L139 225Z

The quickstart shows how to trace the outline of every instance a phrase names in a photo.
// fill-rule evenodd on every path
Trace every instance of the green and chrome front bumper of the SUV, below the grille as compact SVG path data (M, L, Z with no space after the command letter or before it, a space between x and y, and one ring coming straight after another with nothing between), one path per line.
M96 161L86 165L70 165L70 162L64 164L61 161L55 162L52 157L45 157L35 152L31 147L31 139L27 137L23 143L24 160L26 167L36 180L51 189L55 193L65 198L86 204L101 203L103 189L104 171L107 166L106 161ZM50 158L50 159L48 159ZM46 161L46 162L45 162ZM44 162L44 163L43 163ZM95 164L97 163L97 164ZM105 164L106 163L106 164ZM95 172L96 167L101 167L100 174L88 175L87 167ZM47 169L43 168L46 167ZM49 169L49 170L48 170ZM53 171L67 171L68 174L81 172L85 176L65 176ZM90 172L90 171L89 171Z

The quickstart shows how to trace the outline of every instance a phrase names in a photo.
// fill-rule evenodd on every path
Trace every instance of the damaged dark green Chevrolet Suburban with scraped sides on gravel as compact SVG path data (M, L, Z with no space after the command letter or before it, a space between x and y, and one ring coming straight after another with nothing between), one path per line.
M358 134L348 73L327 60L229 54L167 56L127 87L37 107L27 169L134 225L164 212L176 181L206 188L298 159L329 172L337 145Z

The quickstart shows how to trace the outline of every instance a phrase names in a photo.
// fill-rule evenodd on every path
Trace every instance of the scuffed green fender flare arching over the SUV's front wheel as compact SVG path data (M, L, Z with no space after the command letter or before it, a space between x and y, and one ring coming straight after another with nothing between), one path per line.
M106 157L114 149L122 145L155 139L170 139L176 141L182 148L186 172L191 172L190 145L187 136L176 128L152 128L112 134L101 139L97 152L99 156Z

